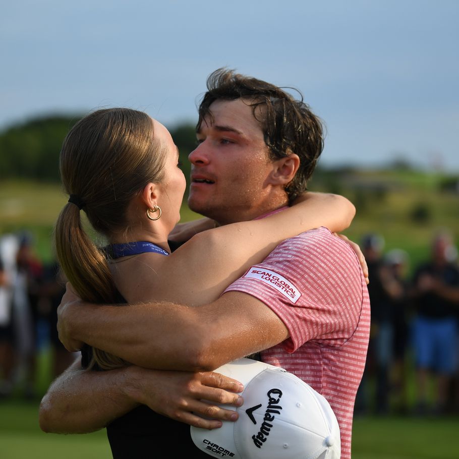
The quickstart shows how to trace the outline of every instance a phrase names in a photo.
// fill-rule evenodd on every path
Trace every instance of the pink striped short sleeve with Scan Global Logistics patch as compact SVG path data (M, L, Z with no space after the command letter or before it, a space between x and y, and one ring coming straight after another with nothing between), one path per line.
M359 322L364 288L354 251L322 227L283 241L225 292L244 292L272 309L290 333L284 349L294 352L311 340L342 346Z

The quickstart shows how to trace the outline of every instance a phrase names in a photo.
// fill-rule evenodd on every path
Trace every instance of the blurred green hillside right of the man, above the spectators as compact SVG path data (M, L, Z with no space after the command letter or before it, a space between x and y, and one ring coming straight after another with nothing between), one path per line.
M384 250L404 249L411 267L426 258L437 231L459 240L459 175L426 172L407 165L377 170L317 170L310 189L346 196L357 208L346 234L360 242L383 237Z

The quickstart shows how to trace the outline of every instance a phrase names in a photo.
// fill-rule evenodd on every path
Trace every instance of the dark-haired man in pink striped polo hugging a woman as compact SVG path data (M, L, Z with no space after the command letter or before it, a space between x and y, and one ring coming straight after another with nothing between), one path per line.
M258 218L288 205L306 189L323 147L321 124L306 104L274 85L223 70L208 79L197 137L199 145L189 156L189 205L218 224ZM285 180L267 186L267 171L272 172L270 165L278 158L286 158L285 170L279 171ZM60 311L68 349L79 349L84 341L141 367L191 372L213 370L267 349L262 360L295 373L328 399L340 424L341 457L350 457L354 397L368 343L369 301L356 255L325 228L280 244L210 305L94 308L72 300L67 294ZM170 416L164 400L174 404L180 398L169 388L170 393L158 401L166 384L153 393L141 381L151 373L139 367L115 370L112 375L79 371L69 370L44 398L45 430L100 428L138 403ZM183 379L161 371L154 375L168 378L175 388ZM206 384L200 373L195 375L198 389L185 395L185 405L190 403L191 408L179 407L172 416L215 427L219 421L206 424L190 413L196 411L192 406ZM222 388L238 390L231 381L221 381ZM85 391L88 385L93 386ZM72 395L75 391L82 407ZM228 392L218 396L219 401L237 403ZM229 418L222 413L210 407L207 414ZM60 421L65 427L56 427Z

